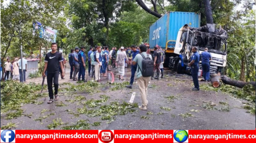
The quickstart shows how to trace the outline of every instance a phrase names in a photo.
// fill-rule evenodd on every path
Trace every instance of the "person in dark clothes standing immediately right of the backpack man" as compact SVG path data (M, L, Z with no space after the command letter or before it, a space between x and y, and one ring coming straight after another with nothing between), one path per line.
M154 46L154 78L159 80L160 76L160 63L161 63L161 51L158 50L158 45ZM156 70L156 72L155 72ZM152 76L152 77L153 77ZM153 78L151 78L153 79Z

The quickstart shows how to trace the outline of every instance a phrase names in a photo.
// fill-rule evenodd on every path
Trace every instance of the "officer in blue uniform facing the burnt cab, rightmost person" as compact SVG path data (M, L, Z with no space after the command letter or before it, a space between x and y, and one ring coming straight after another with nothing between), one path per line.
M211 54L208 52L208 48L204 48L202 52L202 68L204 81L210 82L210 60L212 60Z

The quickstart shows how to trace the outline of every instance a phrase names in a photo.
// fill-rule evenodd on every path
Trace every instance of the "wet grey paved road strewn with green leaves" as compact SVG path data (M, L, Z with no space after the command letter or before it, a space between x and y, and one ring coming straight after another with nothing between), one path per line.
M115 76L117 76L117 70L113 70ZM125 69L125 81L130 81L130 69ZM60 80L63 82L73 82L68 78L69 73L66 74L65 80ZM151 86L156 86L156 88L148 88L148 110L142 111L138 108L137 111L133 113L128 113L124 116L117 115L114 116L115 120L107 124L106 120L101 120L100 117L87 117L85 114L79 115L79 117L74 116L65 112L65 110L72 110L77 113L77 108L82 108L83 105L77 104L77 102L70 103L65 100L73 99L76 95L82 95L89 99L100 99L100 95L105 94L110 97L110 99L104 103L106 105L110 102L118 101L128 102L131 98L132 92L136 92L134 102L141 104L141 98L139 95L139 88L136 83L134 83L133 89L120 89L117 91L111 91L111 85L109 86L107 79L104 79L102 83L106 85L100 89L102 92L89 95L84 92L60 92L59 101L53 102L53 104L47 104L47 100L41 105L26 104L22 108L24 109L24 114L32 113L31 118L26 116L18 117L17 119L6 120L1 119L1 126L6 125L9 122L18 123L16 130L23 129L34 129L34 130L47 130L47 125L52 123L53 119L61 118L64 123L68 125L76 124L79 119L88 119L89 123L101 122L100 126L91 126L91 129L107 129L107 130L254 130L255 129L255 115L246 113L246 110L240 108L243 106L242 102L246 102L241 99L236 99L230 95L223 94L221 92L211 92L211 91L191 91L192 88L192 78L188 75L177 75L172 71L166 70L165 76L160 80L151 80ZM105 77L106 78L106 77ZM41 78L34 80L37 83L41 82ZM115 82L121 82L115 79ZM169 83L169 85L168 85ZM205 84L200 82L200 84ZM155 86L154 86L155 85ZM61 86L60 89L64 89L66 86ZM47 93L47 91L44 91ZM174 100L168 100L167 96L174 96ZM44 98L38 99L43 100ZM47 98L48 99L48 98ZM86 101L86 100L83 100ZM231 110L230 112L221 112L218 110L207 110L202 107L204 102L214 102L217 105L214 107L222 107L219 102L227 102ZM68 106L59 107L55 106L63 102ZM160 107L168 107L171 111L162 110ZM99 108L99 107L95 107ZM51 110L41 114L43 109ZM198 110L199 112L192 112L191 110ZM153 112L152 115L147 115L147 112ZM162 112L163 114L159 114ZM43 119L42 122L35 121L34 119L45 116L49 113L55 113L55 115ZM191 113L193 117L183 118L179 114ZM4 114L3 114L4 115ZM148 119L141 119L141 116L147 116ZM61 127L66 125L61 125L56 129L61 129Z

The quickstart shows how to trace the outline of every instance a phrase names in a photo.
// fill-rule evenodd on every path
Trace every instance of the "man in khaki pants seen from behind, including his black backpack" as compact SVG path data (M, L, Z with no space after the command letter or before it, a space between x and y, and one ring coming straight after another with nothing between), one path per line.
M133 66L137 66L137 82L139 85L139 90L141 92L142 105L139 106L141 110L147 110L148 105L148 83L150 81L150 76L154 75L154 61L152 56L147 54L147 47L145 45L140 45L139 49L141 54L137 54L132 62Z

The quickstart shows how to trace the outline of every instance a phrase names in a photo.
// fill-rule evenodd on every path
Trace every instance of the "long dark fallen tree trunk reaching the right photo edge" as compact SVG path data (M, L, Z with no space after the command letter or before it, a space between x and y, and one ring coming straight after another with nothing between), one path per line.
M225 83L227 85L231 85L231 86L235 86L235 87L239 87L239 88L243 88L247 84L251 84L254 87L256 86L255 81L243 82L243 81L233 80L233 79L227 77L226 75L221 76L220 79L222 80L223 83Z

